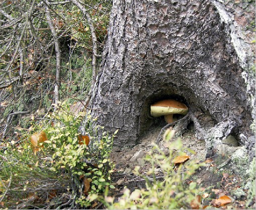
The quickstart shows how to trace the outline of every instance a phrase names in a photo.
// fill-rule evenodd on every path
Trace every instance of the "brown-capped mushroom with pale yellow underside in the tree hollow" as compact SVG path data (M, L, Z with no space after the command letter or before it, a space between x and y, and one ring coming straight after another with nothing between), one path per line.
M164 115L167 123L172 123L174 121L173 114L186 114L188 112L188 107L184 103L174 99L158 101L152 104L150 109L152 116L157 117Z

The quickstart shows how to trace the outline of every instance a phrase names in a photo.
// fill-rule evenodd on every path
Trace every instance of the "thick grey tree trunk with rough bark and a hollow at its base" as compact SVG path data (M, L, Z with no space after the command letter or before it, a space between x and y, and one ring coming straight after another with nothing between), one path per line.
M116 145L134 145L156 120L150 105L176 98L208 148L230 133L244 144L255 117L253 34L244 28L254 15L253 2L114 0L90 101L98 123L119 129Z

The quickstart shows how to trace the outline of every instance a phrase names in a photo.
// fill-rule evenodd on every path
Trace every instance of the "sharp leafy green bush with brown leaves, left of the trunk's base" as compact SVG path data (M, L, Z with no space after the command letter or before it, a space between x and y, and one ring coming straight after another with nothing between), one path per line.
M17 200L12 199L14 208L16 202L23 204L19 208L28 207L33 200L25 204L24 199L32 195L37 197L35 200L44 197L49 203L44 205L50 208L60 208L63 202L70 208L87 207L91 205L89 194L101 194L106 186L113 188L109 159L113 136L93 125L96 119L89 112L75 115L66 102L56 106L56 111L34 125L22 143L12 141L5 151L0 151L0 199L7 201L12 193L19 194ZM82 119L84 133L79 132Z

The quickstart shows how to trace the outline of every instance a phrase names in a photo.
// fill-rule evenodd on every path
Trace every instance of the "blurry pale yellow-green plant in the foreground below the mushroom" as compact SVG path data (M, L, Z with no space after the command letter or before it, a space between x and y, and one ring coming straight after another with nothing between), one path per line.
M177 164L179 158L186 157L180 139L170 142L174 130L168 129L165 133L165 143L169 154L166 155L157 144L146 156L145 160L151 163L151 169L146 176L135 168L135 173L146 180L146 189L136 189L131 192L125 189L122 197L114 203L114 198L105 196L105 203L109 209L180 209L199 207L200 189L191 181L191 175L203 163L188 160L185 164ZM175 158L176 157L176 158ZM176 164L176 166L175 166ZM163 172L162 180L155 174L155 168L160 167Z

